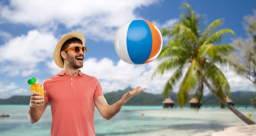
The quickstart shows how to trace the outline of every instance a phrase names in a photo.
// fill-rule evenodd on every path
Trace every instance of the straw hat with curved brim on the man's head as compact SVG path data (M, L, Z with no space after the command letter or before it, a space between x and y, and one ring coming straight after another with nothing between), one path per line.
M60 41L58 41L58 44L57 44L57 46L54 50L54 54L53 54L54 62L60 68L64 67L64 64L62 62L61 55L60 55L61 47L66 40L69 40L73 37L77 37L78 39L80 39L83 42L83 46L85 46L85 36L83 36L83 34L81 32L74 31L74 32L70 32L70 33L62 36Z

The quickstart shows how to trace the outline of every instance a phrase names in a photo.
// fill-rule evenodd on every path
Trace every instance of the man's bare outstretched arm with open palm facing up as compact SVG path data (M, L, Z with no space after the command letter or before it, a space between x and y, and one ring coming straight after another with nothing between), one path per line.
M114 117L120 109L123 107L123 105L136 94L140 94L140 92L146 90L146 88L143 88L139 90L140 87L136 87L135 90L129 91L126 94L121 97L119 101L116 101L116 103L112 105L108 105L107 100L105 97L99 96L94 100L95 106L98 109L99 113L102 115L103 118L106 118L107 120L110 120L112 117Z

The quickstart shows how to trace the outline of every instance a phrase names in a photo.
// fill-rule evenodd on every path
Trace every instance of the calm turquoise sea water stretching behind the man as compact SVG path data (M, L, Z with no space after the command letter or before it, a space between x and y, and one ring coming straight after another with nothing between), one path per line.
M28 105L0 105L0 135L49 135L51 107L48 107L36 124L27 118ZM237 108L237 107L236 107ZM243 114L253 114L256 109L239 107ZM142 116L142 113L144 116ZM162 108L161 106L124 106L111 120L105 120L95 111L95 132L103 135L207 135L230 126L245 125L229 109L203 107L199 111L190 108Z

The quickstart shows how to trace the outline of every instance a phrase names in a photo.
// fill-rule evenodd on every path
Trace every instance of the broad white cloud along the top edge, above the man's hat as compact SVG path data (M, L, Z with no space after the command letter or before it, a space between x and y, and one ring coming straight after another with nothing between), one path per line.
M158 0L131 1L19 1L0 7L2 22L32 25L39 29L56 29L59 24L81 31L94 40L113 40L117 28L133 19L142 19L134 14L141 6L152 5ZM115 3L115 4L113 4Z

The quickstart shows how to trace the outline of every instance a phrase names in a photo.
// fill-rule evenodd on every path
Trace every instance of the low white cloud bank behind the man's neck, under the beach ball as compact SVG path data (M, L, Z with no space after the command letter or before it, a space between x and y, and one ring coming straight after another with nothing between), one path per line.
M135 88L141 86L148 88L148 92L160 94L162 87L171 76L171 72L165 75L156 76L151 79L154 69L161 61L154 60L144 65L131 65L120 59L115 65L109 58L103 58L99 61L96 58L86 59L83 67L80 69L82 73L95 76L102 84L103 92L111 92L124 89L128 86ZM61 71L54 61L48 62L47 66L51 74L57 74Z

